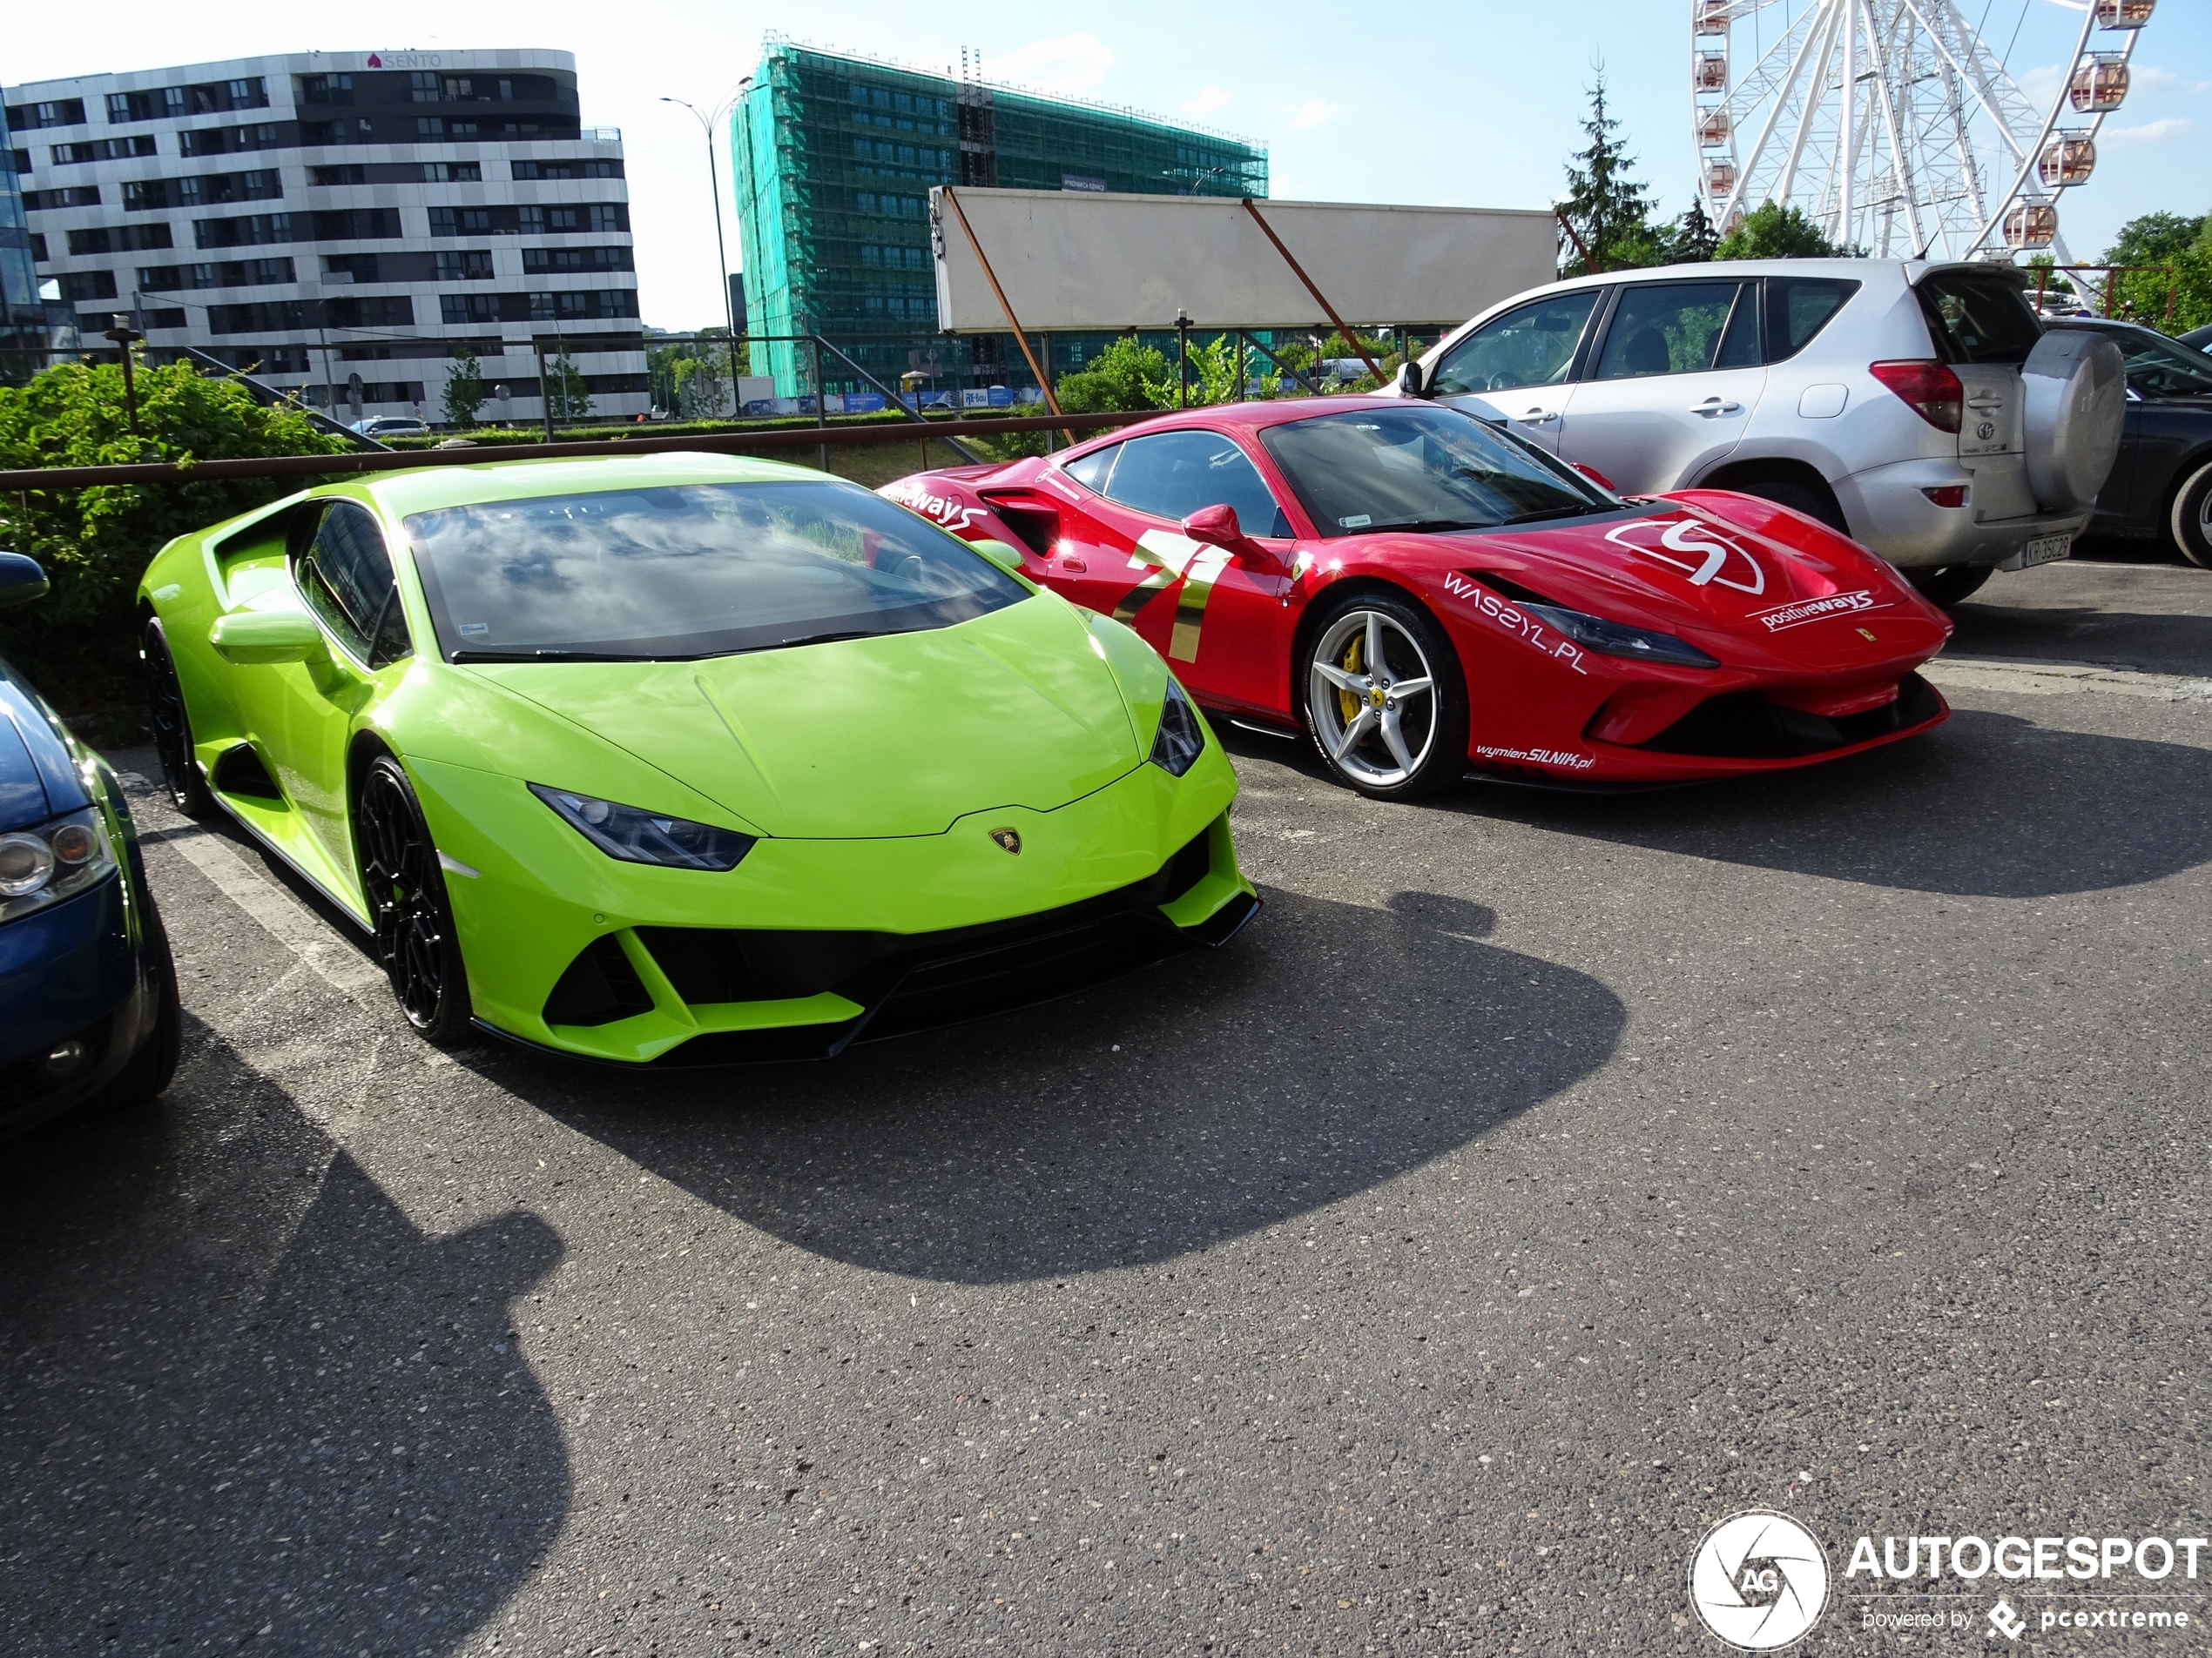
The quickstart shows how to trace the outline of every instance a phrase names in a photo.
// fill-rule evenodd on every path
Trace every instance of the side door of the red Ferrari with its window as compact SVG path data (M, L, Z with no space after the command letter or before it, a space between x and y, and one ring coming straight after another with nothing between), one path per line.
M1062 511L1046 579L1133 626L1201 703L1287 710L1292 522L1252 458L1219 431L1128 438L1075 460L1082 497ZM1248 537L1230 550L1183 535L1183 520L1230 506Z

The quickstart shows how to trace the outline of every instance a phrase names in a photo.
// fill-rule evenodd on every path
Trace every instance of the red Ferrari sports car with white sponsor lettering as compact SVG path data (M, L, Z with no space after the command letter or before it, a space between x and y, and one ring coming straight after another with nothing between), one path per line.
M1624 502L1464 409L1192 409L883 493L1376 798L1772 772L1949 712L1916 670L1951 623L1863 546L1754 495Z

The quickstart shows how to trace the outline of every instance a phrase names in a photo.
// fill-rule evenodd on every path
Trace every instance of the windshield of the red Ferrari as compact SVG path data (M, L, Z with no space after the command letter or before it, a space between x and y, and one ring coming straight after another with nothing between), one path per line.
M1473 416L1427 402L1376 400L1265 427L1259 440L1321 535L1469 531L1619 506Z

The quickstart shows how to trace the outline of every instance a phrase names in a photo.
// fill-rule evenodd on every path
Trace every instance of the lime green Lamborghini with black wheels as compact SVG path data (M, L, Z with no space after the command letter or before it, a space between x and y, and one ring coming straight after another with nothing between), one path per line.
M1223 944L1237 778L1128 628L759 460L438 466L170 542L161 769L431 1041L841 1052Z

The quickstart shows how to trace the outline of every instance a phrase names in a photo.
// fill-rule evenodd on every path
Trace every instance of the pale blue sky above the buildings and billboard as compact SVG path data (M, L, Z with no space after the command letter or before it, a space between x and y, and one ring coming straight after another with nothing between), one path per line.
M2031 91L2053 86L2079 11L2068 0L1958 0ZM1579 144L1584 86L1604 62L1615 113L1668 212L1690 197L1690 0L1378 0L1276 4L958 9L816 0L803 24L757 0L540 0L522 7L378 0L303 9L126 4L86 31L66 7L20 7L0 80L208 62L274 51L553 46L577 55L586 124L619 126L646 321L721 318L699 128L661 95L712 106L785 29L814 46L942 69L978 51L993 80L1194 119L1270 148L1274 195L1542 208ZM343 29L341 29L343 24ZM128 42L128 46L124 46ZM2128 104L2106 122L2095 181L2064 201L2077 256L2121 221L2212 210L2212 4L2163 0L2135 57ZM723 172L728 181L728 172ZM734 237L730 239L734 252Z

